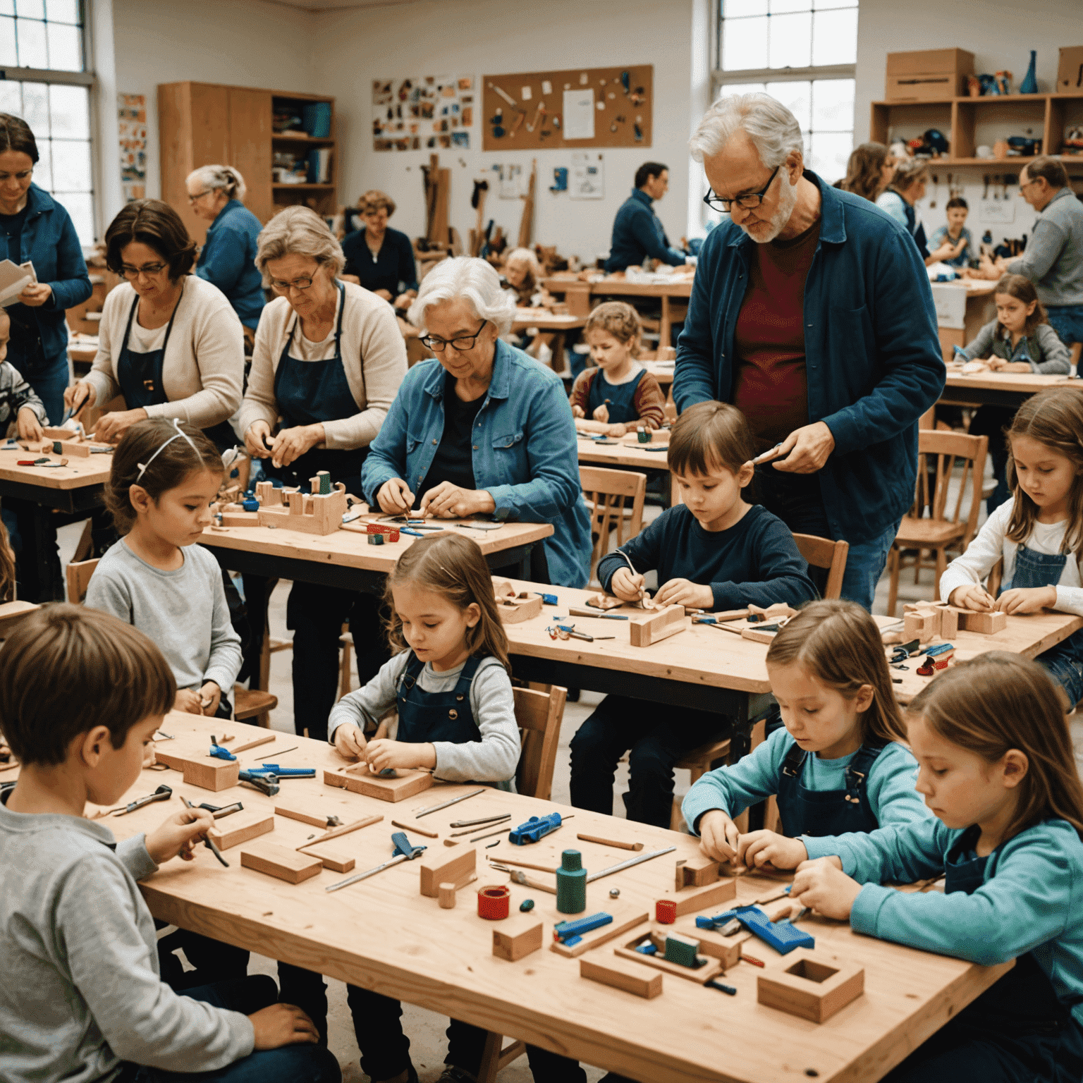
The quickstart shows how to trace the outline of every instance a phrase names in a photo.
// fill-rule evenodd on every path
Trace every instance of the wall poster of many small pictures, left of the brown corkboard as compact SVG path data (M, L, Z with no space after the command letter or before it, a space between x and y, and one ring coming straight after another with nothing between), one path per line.
M469 151L473 114L473 76L374 79L373 149Z

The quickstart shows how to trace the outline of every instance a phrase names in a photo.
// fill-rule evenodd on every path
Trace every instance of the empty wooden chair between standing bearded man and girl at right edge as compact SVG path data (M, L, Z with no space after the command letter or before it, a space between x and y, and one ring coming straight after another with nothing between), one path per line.
M949 546L965 549L978 526L981 507L981 484L986 469L988 436L969 436L961 432L939 432L919 429L917 433L917 486L911 513L899 525L899 532L891 544L888 556L888 571L891 576L888 590L888 616L895 616L899 597L899 575L902 571L904 550L917 550L917 561L922 553L930 550L936 556L936 584L934 599L940 598L940 576L948 566L945 550ZM936 464L934 468L934 462ZM955 468L962 464L962 478L955 506L948 511L948 488ZM930 475L932 493L929 493ZM967 479L971 482L970 508L964 520L963 498ZM928 509L929 516L925 517ZM918 567L918 571L921 569Z

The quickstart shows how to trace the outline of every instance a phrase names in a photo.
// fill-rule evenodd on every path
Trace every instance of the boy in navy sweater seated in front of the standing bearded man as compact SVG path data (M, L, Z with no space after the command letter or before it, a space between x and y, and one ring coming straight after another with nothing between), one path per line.
M634 601L644 573L655 569L660 605L729 610L814 598L808 564L786 525L742 498L755 454L748 422L735 407L705 402L687 409L674 426L667 456L684 503L601 560L603 589ZM616 764L630 748L628 819L668 827L674 764L727 730L725 719L708 712L663 718L656 704L606 696L572 739L572 804L611 815Z

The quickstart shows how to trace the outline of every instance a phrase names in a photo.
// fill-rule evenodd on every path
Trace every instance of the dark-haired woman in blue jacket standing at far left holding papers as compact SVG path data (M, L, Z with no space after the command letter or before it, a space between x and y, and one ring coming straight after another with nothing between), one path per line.
M68 212L32 183L37 161L27 123L0 113L0 260L34 263L38 279L8 309L8 361L44 403L49 420L60 425L68 381L64 310L86 301L91 285Z

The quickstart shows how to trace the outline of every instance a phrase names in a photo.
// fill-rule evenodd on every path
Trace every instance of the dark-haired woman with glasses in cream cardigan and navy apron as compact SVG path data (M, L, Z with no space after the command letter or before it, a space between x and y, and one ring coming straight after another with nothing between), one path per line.
M116 443L146 417L180 418L219 446L240 405L245 339L225 295L190 274L196 246L168 204L136 199L105 231L105 261L127 283L105 299L97 356L64 402L78 415L118 394L126 409L103 415L95 434Z

